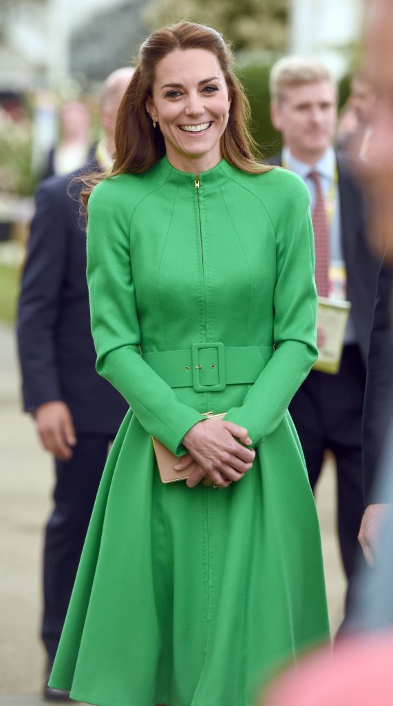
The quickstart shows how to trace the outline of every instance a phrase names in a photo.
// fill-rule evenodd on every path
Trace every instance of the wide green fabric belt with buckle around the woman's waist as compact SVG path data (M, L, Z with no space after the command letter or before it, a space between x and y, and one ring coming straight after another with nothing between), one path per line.
M273 355L271 346L226 347L221 342L194 343L181 351L142 353L146 363L171 388L218 392L225 385L254 383Z

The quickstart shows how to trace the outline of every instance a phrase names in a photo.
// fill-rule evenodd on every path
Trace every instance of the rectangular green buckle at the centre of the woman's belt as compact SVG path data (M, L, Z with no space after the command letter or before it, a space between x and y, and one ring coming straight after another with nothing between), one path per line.
M196 393L225 390L225 346L217 343L192 345L192 383ZM201 380L202 378L202 380Z

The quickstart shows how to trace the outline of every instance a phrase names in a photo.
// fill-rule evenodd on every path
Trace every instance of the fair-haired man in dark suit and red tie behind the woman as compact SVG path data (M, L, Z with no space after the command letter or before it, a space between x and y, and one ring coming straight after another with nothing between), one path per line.
M311 371L289 407L313 488L325 451L335 455L339 542L349 578L363 514L361 419L378 259L368 247L361 191L347 158L332 148L337 106L327 69L314 59L280 59L270 90L273 124L285 143L275 163L297 172L310 191L318 294L351 302L339 372Z

